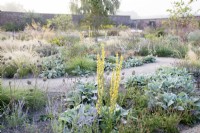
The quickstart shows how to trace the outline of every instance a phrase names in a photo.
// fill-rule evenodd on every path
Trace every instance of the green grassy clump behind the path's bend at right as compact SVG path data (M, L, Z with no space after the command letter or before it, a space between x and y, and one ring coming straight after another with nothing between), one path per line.
M148 40L141 40L137 45L140 45L138 54L141 56L152 54L159 57L184 58L188 51L188 46L180 41L180 37L174 35L149 36Z

